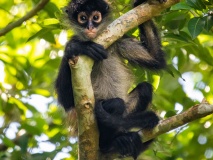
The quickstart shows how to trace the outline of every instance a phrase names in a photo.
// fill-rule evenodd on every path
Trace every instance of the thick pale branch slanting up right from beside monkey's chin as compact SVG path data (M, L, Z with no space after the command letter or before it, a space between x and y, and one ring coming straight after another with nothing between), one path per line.
M139 5L112 22L94 41L107 48L129 30L159 15L160 12L179 1L180 0L168 0L163 4L146 3Z

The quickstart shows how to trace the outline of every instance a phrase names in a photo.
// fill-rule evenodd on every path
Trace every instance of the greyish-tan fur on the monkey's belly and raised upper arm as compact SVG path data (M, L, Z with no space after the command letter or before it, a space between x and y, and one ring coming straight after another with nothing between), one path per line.
M155 60L139 44L139 41L132 38L115 42L107 51L108 58L93 66L91 79L95 98L96 100L122 98L126 103L127 112L131 112L137 105L138 92L128 94L135 77L127 67L125 59Z

